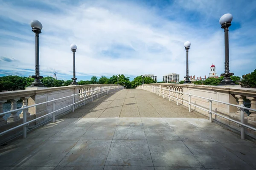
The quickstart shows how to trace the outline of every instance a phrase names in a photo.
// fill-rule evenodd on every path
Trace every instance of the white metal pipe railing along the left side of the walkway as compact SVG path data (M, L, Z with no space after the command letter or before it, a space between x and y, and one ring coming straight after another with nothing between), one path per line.
M115 87L116 87L116 86L115 86ZM107 88L105 88L105 87L104 87L104 88L101 88L101 94L102 94L102 93L105 93L105 94L106 94L106 89L108 90L108 87L107 87ZM111 88L110 88L110 89L111 89ZM119 88L117 88L117 89L119 89ZM103 92L102 90L104 90L104 92ZM23 108L15 109L15 110L12 110L12 111L7 111L7 112L0 113L0 115L4 115L4 114L12 113L12 112L15 112L15 111L23 110L23 124L17 125L17 126L15 126L15 127L12 127L12 128L10 128L10 129L8 129L8 130L5 130L5 131L1 132L1 133L0 133L0 136L4 135L4 134L6 134L6 133L8 133L8 132L10 132L10 131L12 131L12 130L15 130L15 129L19 128L19 127L23 127L23 138L26 138L26 126L29 125L29 123L35 122L36 120L42 119L42 118L44 118L44 117L46 117L46 116L49 116L49 115L51 115L51 114L52 114L52 122L55 122L55 113L56 113L57 111L61 111L62 109L68 108L68 107L70 107L70 106L73 106L73 107L72 107L72 111L74 111L74 105L76 105L76 104L78 104L78 103L80 103L80 102L83 102L83 101L84 101L84 105L85 105L85 100L86 100L86 99L93 98L93 96L97 96L98 93L95 94L95 95L93 95L93 92L94 92L94 91L98 91L98 89L93 89L93 90L90 90L90 91L85 91L85 92L79 93L79 94L72 94L72 95L70 95L70 96L61 97L61 98L59 98L59 99L52 99L52 100L50 100L50 101L38 103L38 104L35 104L35 105L31 105L31 106L26 106L26 105L24 105ZM82 99L82 100L80 100L80 101L78 101L78 102L74 102L74 98L75 98L76 95L81 95L81 94L85 94L85 93L88 93L88 92L91 92L91 94L92 94L90 97L85 98L86 95L84 95L84 99ZM55 102L56 102L57 100L65 99L65 98L68 98L68 97L72 97L72 98L73 98L72 104L71 104L71 105L67 105L67 106L65 106L65 107L63 107L63 108L60 108L60 109L58 109L58 110L55 111ZM47 114L45 114L44 116L40 116L40 117L38 117L38 118L32 119L32 120L30 120L29 122L26 122L26 110L27 110L27 108L35 107L35 106L42 105L42 104L49 103L49 102L53 102L53 103L52 103L52 112L47 113Z

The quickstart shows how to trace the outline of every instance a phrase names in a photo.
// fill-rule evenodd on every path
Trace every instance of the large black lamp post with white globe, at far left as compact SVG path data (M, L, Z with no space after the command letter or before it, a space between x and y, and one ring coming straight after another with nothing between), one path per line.
M32 20L30 26L35 33L35 75L32 76L35 80L31 83L30 87L45 87L40 80L43 76L40 76L39 69L39 34L41 33L43 26L38 20Z

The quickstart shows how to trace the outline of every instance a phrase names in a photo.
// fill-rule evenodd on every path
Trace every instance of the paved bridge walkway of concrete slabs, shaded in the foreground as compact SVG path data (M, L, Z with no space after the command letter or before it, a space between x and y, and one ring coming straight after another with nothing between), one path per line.
M255 170L256 145L155 94L125 89L0 148L1 170Z

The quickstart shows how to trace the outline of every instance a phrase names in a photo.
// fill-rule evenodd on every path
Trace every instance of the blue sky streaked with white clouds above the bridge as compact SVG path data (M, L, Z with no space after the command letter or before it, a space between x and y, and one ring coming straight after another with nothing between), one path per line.
M35 37L30 22L39 20L42 76L70 79L77 45L76 75L125 74L133 80L155 74L209 75L212 62L224 73L224 30L218 23L233 14L230 71L237 76L256 68L255 0L0 0L0 76L35 73ZM183 79L183 78L182 78Z

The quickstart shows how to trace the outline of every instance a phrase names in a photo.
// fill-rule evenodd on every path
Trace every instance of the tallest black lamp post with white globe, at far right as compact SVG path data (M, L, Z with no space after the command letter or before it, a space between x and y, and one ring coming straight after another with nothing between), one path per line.
M221 16L219 23L221 24L221 28L224 29L225 33L225 73L222 73L221 76L224 77L224 79L221 81L220 85L235 85L233 80L230 78L230 76L233 76L233 73L230 73L229 70L229 45L228 45L228 27L231 26L231 21L233 19L233 16L231 14L224 14Z

